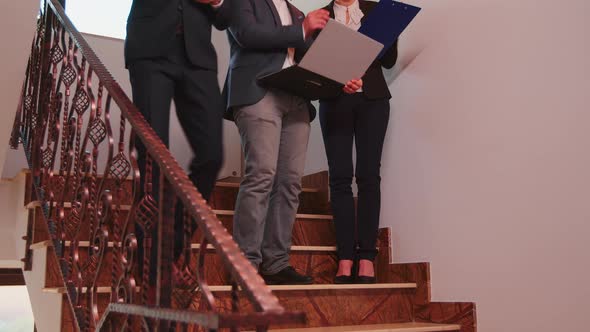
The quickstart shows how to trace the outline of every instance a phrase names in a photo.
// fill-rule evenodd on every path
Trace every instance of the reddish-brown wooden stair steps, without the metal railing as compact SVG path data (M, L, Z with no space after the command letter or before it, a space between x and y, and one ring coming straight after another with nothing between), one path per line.
M313 285L271 286L273 293L288 311L303 311L307 315L305 326L281 326L284 331L476 331L475 305L473 303L433 303L430 301L430 274L428 263L391 264L391 234L381 229L378 239L379 255L375 269L377 284L335 285L336 247L332 216L328 214L327 174L320 173L304 179L301 194L300 214L293 231L291 264L315 279ZM238 179L219 181L210 204L224 226L231 232L233 208L237 195ZM47 229L43 223L42 210L32 191L27 190L25 204L30 214L29 255L45 259L32 266L30 273L43 274L42 292L60 298L61 305L46 310L61 315L60 331L73 331L71 310L60 280L59 265L52 252ZM129 204L123 198L122 204ZM128 209L128 208L127 208ZM122 213L125 213L123 206ZM68 211L66 211L66 214ZM84 224L83 224L84 225ZM84 226L82 226L84 227ZM87 227L87 226L86 226ZM218 310L232 309L231 286L218 255L213 248L200 248L193 238L192 251L198 254L205 250L206 279L217 297ZM81 234L88 234L83 230ZM80 255L87 255L88 239L80 239ZM112 239L111 239L112 241ZM69 246L66 243L66 247ZM113 243L109 243L109 249ZM111 294L110 253L104 259L106 266L99 275L99 311L106 310ZM84 258L84 257L82 257ZM82 259L84 260L84 259ZM39 264L39 266L35 266ZM44 271L39 269L44 268ZM39 277L38 277L39 278ZM139 279L138 279L139 280ZM199 296L186 301L186 294L174 294L178 307L198 309ZM240 302L241 311L251 311L246 301ZM273 327L271 326L271 329ZM40 331L43 331L40 327Z

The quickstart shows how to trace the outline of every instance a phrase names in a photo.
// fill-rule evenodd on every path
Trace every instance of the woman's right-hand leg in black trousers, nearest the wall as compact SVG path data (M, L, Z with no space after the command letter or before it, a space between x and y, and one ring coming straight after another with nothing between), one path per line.
M381 209L381 153L389 122L389 100L365 100L355 108L356 183L358 185L359 276L373 276Z

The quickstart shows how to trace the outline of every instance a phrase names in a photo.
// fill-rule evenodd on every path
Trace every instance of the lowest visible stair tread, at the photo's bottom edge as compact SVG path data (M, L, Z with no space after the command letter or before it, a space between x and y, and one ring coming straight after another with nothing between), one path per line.
M433 324L433 323L393 323L375 325L355 326L326 326L312 328L276 329L277 332L438 332L438 331L459 331L461 325L457 324Z

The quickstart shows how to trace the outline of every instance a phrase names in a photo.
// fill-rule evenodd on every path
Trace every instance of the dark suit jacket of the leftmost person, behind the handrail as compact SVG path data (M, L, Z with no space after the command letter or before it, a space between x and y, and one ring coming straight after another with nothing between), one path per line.
M184 25L184 39L189 61L198 67L217 70L217 54L211 43L211 26L224 30L231 18L230 2L220 8L193 0L133 0L127 20L125 63L166 55L176 40L176 30ZM236 2L240 2L237 0Z

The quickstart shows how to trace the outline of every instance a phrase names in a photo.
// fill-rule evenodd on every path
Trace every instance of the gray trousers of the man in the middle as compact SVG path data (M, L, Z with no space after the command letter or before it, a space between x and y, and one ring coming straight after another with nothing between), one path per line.
M289 265L291 236L309 140L309 110L302 98L269 91L235 110L246 159L233 235L261 274Z

